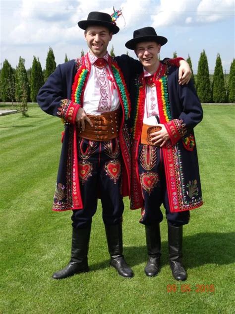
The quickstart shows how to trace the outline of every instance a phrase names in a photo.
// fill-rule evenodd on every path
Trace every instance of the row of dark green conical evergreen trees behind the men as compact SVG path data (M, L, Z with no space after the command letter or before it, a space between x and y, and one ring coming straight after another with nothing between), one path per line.
M84 55L83 50L81 55ZM114 54L114 47L111 49L111 55ZM177 56L174 52L174 57ZM64 62L68 58L65 55ZM192 69L190 56L187 58ZM32 68L28 71L25 69L25 60L19 58L16 69L13 69L9 62L5 60L0 73L0 101L36 102L36 96L39 88L44 84L48 77L56 69L56 61L52 48L49 48L46 69L42 70L41 63L38 58L33 58ZM28 75L27 75L28 74ZM205 51L200 55L198 62L197 76L192 75L195 83L198 97L201 102L235 102L235 59L231 63L229 82L226 86L223 67L220 55L217 55L213 81L211 83L209 76L208 61Z

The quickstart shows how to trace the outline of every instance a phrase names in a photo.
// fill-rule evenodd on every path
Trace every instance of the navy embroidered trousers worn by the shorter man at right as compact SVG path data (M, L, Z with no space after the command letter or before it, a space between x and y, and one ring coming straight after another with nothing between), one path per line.
M144 208L141 210L142 217L140 223L144 225L160 223L163 220L160 206L163 204L170 224L173 226L185 225L189 222L189 211L181 213L170 212L164 162L161 153L159 147L139 145L138 170L144 198Z

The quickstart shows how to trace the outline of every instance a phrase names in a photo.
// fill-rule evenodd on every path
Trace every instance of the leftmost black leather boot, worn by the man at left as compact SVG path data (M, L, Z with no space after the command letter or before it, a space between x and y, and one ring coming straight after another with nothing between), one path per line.
M71 259L66 267L53 274L54 279L63 279L74 274L87 272L87 254L91 233L91 225L86 229L72 229Z

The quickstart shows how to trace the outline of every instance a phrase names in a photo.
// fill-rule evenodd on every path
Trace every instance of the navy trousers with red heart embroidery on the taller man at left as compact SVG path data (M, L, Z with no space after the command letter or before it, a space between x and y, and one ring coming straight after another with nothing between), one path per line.
M77 147L83 208L73 211L72 226L86 228L91 223L98 197L104 223L120 223L124 205L120 193L122 157L118 138L104 142L78 138Z

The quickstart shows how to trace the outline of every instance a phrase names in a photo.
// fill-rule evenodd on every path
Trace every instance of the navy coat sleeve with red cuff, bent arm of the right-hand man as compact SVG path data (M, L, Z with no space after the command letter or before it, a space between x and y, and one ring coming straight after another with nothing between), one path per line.
M178 84L178 69L170 74L168 88L173 120L165 126L172 144L176 144L202 120L203 110L192 80L185 85Z

